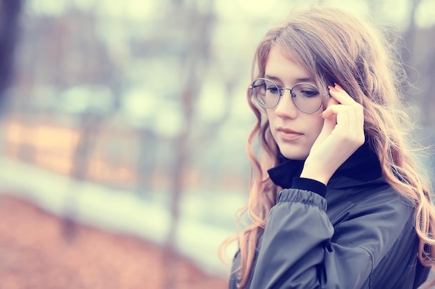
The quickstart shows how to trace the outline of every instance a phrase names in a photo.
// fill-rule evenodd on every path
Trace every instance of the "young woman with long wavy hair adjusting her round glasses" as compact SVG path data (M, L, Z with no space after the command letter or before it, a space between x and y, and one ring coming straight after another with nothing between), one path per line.
M223 244L222 254L239 245L229 288L397 289L427 279L435 211L388 46L334 8L293 15L258 45L247 94L257 117L247 146L252 224Z

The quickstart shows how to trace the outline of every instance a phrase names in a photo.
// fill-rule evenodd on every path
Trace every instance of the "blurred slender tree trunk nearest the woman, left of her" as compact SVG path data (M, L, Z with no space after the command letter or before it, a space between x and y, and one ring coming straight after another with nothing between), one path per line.
M208 14L197 10L197 3L193 3L187 8L184 20L188 21L185 27L186 37L189 38L186 49L188 54L185 58L183 67L186 67L187 80L182 90L181 100L183 104L183 113L185 125L183 131L174 139L173 148L175 152L174 163L171 170L172 180L170 192L170 228L165 243L164 263L166 271L165 289L177 288L177 253L175 245L177 244L177 235L179 230L180 202L183 193L184 172L188 167L190 155L190 136L193 126L193 110L198 97L200 87L202 87L202 78L208 64L210 54L209 44L211 42L211 30L213 26L212 0L208 2ZM202 14L203 13L203 14ZM181 61L183 62L183 61Z

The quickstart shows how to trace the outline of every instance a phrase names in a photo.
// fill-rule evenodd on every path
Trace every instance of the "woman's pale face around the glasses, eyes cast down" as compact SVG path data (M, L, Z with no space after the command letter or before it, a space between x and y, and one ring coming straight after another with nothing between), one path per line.
M273 46L265 65L265 76L279 87L291 88L298 82L316 85L312 76L298 64L282 55L279 46ZM266 110L270 131L279 150L288 159L306 159L314 141L323 127L320 116L323 108L313 114L306 114L295 107L290 91L284 89L281 101L272 109Z

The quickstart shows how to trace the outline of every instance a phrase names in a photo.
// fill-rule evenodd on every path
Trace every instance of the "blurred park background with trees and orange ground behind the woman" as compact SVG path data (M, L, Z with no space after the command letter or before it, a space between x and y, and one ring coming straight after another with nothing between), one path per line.
M432 0L0 0L0 288L226 288L254 49L313 3L400 31L433 145Z

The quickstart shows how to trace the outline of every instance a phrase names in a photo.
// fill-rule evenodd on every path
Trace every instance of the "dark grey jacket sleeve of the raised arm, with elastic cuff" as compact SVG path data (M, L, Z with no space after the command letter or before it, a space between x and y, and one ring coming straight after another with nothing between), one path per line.
M362 201L335 234L322 195L284 189L268 216L250 288L363 288L411 213L390 203Z

